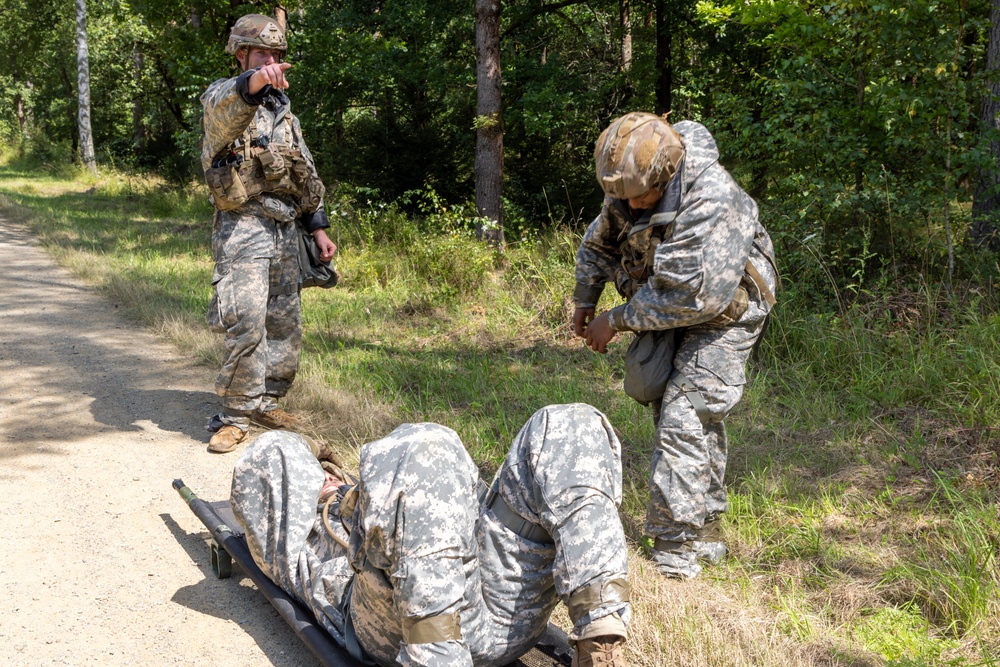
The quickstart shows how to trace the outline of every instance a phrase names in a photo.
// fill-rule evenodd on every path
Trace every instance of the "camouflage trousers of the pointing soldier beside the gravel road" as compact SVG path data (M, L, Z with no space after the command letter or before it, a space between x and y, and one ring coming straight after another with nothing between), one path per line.
M294 222L266 215L256 202L216 212L215 295L209 323L225 333L225 339L215 391L223 397L223 423L244 430L255 410L275 407L298 370L302 319L297 230ZM291 293L269 295L276 286Z

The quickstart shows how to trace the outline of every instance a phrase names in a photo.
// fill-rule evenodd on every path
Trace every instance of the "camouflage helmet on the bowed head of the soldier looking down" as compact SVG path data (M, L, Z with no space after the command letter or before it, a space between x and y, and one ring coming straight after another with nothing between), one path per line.
M632 112L615 120L594 146L597 181L615 199L664 187L684 158L684 143L664 117Z

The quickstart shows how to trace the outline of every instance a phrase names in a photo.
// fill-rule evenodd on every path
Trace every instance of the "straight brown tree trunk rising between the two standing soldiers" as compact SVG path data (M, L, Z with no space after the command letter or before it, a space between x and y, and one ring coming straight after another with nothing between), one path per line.
M500 0L476 0L476 223L482 241L504 247Z

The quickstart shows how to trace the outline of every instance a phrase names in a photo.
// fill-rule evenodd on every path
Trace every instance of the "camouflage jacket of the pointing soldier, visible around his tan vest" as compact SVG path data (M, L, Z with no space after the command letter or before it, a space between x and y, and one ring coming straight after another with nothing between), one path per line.
M288 97L270 85L251 95L248 80L254 71L243 72L231 79L219 79L202 94L202 170L207 171L214 160L233 150L252 122L255 135L267 135L271 144L300 151L310 174L316 176L312 153L302 136L299 119L290 111ZM239 149L236 150L238 152ZM299 202L291 201L290 197L266 192L252 197L235 213L264 215L278 222L291 222L297 215L303 214L306 231L329 227L322 202L314 211L300 210Z

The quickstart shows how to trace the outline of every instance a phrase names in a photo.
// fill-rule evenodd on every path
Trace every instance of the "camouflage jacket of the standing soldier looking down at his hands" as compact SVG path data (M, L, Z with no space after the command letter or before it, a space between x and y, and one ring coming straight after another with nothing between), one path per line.
M606 198L577 252L577 307L596 306L607 282L629 300L610 312L616 331L708 322L733 301L748 259L758 270L774 261L757 204L719 164L712 135L691 121L674 129L685 157L656 207L633 220L627 202Z

